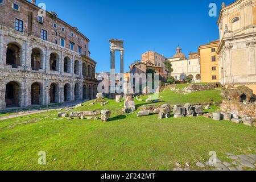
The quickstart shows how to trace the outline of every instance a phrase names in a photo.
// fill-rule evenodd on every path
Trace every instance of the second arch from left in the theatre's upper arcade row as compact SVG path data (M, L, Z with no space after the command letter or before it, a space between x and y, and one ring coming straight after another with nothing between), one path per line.
M38 71L43 69L43 51L40 48L33 48L31 53L31 69Z

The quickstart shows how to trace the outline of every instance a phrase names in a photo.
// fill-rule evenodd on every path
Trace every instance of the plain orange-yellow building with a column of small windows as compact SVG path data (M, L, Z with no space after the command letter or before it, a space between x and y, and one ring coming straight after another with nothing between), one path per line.
M216 53L219 40L199 47L201 64L201 82L218 82L218 55Z

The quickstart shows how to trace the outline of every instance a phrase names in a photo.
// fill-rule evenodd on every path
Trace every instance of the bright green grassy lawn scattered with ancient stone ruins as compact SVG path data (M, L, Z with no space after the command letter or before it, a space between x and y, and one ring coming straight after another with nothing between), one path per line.
M168 104L206 103L220 102L219 93L167 90L160 96ZM226 152L256 154L254 127L204 117L137 118L138 111L122 114L123 103L108 101L106 106L89 105L94 102L90 101L74 109L111 109L107 123L56 120L57 111L0 121L0 170L172 170L175 162L199 169L195 163L206 162L209 151L226 162L231 162ZM137 106L145 103L136 101ZM38 164L39 151L46 151L46 165Z

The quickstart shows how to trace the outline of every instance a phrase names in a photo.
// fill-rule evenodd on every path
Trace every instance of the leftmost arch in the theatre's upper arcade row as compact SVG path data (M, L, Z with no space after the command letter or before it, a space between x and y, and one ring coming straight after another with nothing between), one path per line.
M20 56L22 55L22 47L18 43L7 44L6 64L13 68L20 66Z

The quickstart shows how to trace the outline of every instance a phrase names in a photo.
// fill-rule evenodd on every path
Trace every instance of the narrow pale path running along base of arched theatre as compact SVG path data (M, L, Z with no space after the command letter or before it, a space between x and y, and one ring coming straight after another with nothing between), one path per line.
M64 107L72 107L72 106L76 106L77 104L81 104L81 102L69 102L69 103L65 103L61 106L56 106L56 107L52 107L51 109L44 109L44 110L31 110L31 111L24 111L24 113L20 113L20 114L10 114L10 115L6 115L6 116L3 116L3 117L0 117L0 121L1 120L4 120L4 119L11 119L11 118L16 118L16 117L22 117L22 116L25 116L25 115L31 115L31 114L37 114L37 113L44 113L44 112L47 112L47 111L52 111L52 110L56 110L56 109L61 109L61 108L64 108Z

